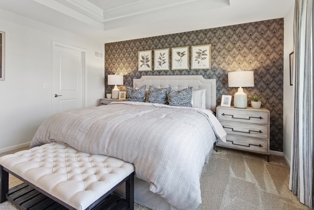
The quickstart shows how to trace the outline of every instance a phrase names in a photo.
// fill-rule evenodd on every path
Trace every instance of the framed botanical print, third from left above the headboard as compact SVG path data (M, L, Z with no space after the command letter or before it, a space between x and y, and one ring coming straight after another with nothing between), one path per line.
M171 69L185 70L189 68L189 47L171 48Z

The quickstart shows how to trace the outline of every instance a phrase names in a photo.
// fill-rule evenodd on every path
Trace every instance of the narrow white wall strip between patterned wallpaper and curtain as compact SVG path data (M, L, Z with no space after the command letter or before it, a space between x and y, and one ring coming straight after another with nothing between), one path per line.
M284 17L284 157L291 163L291 144L293 130L293 86L290 86L289 54L293 52L294 5Z

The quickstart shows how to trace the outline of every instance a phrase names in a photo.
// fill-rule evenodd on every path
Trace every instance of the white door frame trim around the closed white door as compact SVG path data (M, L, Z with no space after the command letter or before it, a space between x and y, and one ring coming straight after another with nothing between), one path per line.
M53 105L53 97L54 97L54 93L53 93L53 90L54 90L54 74L53 74L53 69L54 69L54 52L55 52L55 47L63 47L63 48L68 48L68 49L71 49L71 50L76 50L78 52L81 53L81 56L82 56L82 107L85 107L85 104L87 104L87 97L86 97L86 92L87 92L87 87L85 84L87 84L87 71L86 71L86 52L87 50L84 49L84 48L80 48L80 47L76 47L76 46L73 46L73 45L69 45L69 44L64 44L64 43L61 43L61 42L57 42L57 41L52 41L52 70L51 70L51 75L52 75L52 80L51 80L51 114L53 113L53 108L54 108L54 105Z

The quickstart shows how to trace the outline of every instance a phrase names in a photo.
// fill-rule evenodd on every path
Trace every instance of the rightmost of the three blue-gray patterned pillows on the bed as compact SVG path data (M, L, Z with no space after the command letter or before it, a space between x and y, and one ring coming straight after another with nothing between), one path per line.
M167 94L169 105L192 107L192 91L192 87L183 90L171 90Z

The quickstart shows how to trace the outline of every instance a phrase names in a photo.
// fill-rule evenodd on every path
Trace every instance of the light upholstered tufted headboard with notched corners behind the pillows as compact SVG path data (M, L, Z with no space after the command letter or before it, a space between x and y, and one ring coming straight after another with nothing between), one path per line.
M206 109L216 112L216 80L204 79L201 75L178 75L178 76L142 76L133 79L133 88L151 85L157 88L172 87L173 90L182 90L193 87L193 90L206 89Z

